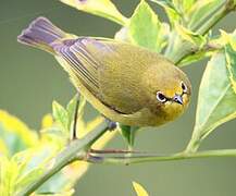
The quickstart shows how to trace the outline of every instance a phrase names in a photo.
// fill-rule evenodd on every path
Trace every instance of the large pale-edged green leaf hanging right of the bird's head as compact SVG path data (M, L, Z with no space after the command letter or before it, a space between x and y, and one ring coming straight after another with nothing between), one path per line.
M202 76L196 123L188 149L195 149L216 126L235 118L236 95L228 79L226 59L224 53L216 53Z

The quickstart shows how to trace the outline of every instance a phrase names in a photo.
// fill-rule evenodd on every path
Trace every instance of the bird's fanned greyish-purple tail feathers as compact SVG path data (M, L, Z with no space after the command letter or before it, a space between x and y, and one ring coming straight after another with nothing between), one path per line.
M37 17L22 32L17 40L42 50L54 53L52 42L64 38L66 34L54 26L46 17Z

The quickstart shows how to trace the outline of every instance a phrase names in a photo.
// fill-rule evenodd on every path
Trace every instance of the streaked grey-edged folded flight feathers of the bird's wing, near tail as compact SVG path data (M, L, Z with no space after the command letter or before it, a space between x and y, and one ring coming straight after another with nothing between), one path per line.
M99 62L88 51L84 38L66 39L53 45L57 53L64 59L70 69L78 76L83 85L95 96L99 94Z

